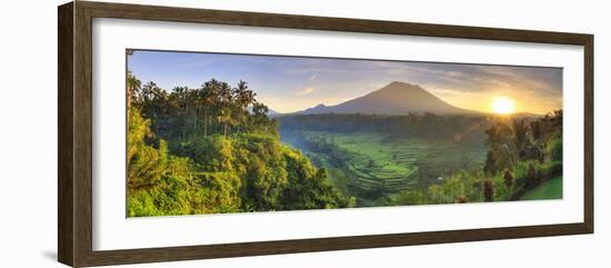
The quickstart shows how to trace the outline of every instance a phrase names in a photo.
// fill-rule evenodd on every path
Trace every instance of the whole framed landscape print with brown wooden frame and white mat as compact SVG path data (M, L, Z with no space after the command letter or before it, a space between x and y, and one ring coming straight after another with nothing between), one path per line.
M59 7L59 261L593 232L593 36Z

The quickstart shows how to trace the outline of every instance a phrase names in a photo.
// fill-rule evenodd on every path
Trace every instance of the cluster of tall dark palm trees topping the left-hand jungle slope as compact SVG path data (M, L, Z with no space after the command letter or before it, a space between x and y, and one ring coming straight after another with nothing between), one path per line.
M257 93L240 81L236 88L211 79L199 88L176 87L167 91L150 81L128 75L129 106L139 109L151 120L151 128L168 140L232 132L264 132L278 135L278 123L270 119L269 109L257 101Z

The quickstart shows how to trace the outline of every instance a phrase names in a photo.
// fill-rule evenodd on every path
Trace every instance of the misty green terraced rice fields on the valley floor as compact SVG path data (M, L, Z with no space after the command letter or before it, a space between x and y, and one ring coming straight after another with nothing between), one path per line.
M397 138L382 132L301 131L283 136L319 167L331 170L340 189L351 182L360 191L392 195L422 185L441 182L443 176L470 165L483 165L484 140Z

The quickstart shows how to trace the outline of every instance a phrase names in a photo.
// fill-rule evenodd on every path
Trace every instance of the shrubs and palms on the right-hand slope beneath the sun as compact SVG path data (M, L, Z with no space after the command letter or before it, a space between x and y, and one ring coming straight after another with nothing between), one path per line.
M498 121L487 130L489 151L482 170L453 172L443 182L430 186L425 197L418 190L407 190L395 200L403 205L419 205L509 201L518 200L524 193L529 198L544 196L541 199L561 196L561 120L562 112L557 111L530 123L524 120ZM542 185L551 179L554 183L542 190Z

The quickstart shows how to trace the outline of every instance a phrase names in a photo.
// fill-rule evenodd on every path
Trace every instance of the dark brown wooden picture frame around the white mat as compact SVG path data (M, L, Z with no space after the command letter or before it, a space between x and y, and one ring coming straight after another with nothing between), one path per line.
M238 256L294 254L492 239L592 234L593 36L444 24L237 12L76 1L58 9L58 259L103 266ZM118 18L229 26L575 44L584 48L583 221L543 226L388 234L169 248L92 249L92 19Z

